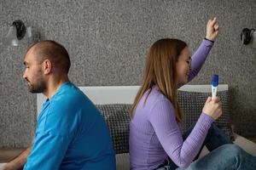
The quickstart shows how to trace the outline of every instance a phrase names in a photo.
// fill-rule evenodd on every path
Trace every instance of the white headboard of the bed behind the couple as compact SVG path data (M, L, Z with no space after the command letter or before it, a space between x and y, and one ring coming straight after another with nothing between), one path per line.
M94 104L132 104L139 86L96 86L79 87ZM178 90L189 92L211 92L211 85L184 85ZM227 84L218 85L218 91L228 90ZM43 94L37 94L38 113L45 100Z

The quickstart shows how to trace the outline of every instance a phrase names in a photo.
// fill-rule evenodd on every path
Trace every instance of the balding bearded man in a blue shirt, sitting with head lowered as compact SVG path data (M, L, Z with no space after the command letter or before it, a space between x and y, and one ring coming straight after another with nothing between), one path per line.
M34 144L3 169L115 169L104 119L68 80L67 50L54 41L38 42L28 49L24 65L29 91L43 93L47 99L38 117Z

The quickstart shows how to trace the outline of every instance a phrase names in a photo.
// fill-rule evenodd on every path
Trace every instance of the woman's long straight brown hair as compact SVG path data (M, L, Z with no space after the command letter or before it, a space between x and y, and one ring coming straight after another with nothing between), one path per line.
M182 121L182 112L177 102L177 71L176 62L178 55L188 45L177 39L160 39L149 48L143 71L143 84L131 106L131 117L134 116L138 102L143 94L152 90L154 85L169 99L174 106L177 122ZM148 93L148 94L149 94ZM146 102L146 100L145 100Z

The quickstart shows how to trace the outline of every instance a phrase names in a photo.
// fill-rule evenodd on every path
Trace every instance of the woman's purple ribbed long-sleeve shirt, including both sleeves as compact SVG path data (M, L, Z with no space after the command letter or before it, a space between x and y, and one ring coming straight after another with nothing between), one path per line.
M192 56L191 81L201 70L213 43L203 40ZM154 86L139 101L135 115L130 122L130 164L131 169L143 170L158 167L167 156L178 167L188 167L201 149L207 131L214 121L211 116L201 113L189 137L183 141L180 124L170 100Z

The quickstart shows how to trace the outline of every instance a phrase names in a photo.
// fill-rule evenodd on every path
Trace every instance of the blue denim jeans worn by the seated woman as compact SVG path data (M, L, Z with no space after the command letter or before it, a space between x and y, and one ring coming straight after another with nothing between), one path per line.
M186 139L192 131L191 127L188 132L184 133L183 139ZM210 151L207 156L198 159L203 146L206 145ZM201 147L198 155L195 156L194 161L189 167L182 168L168 158L157 170L222 170L222 169L242 169L242 170L255 170L256 157L249 155L245 150L242 150L227 137L223 131L218 129L214 124L210 127L207 137Z

